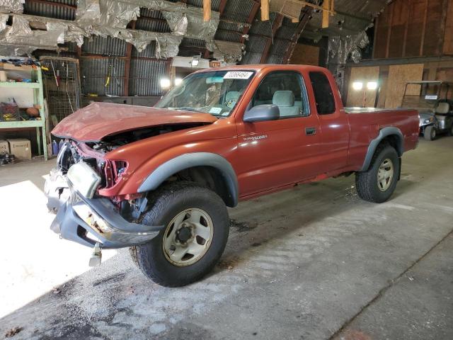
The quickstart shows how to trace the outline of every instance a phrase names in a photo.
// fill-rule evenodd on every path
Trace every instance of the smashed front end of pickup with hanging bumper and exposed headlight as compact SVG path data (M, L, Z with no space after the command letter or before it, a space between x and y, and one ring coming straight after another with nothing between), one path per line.
M137 223L146 198L120 200L99 195L99 191L115 186L127 169L125 161L103 158L113 147L112 142L67 140L60 150L45 193L47 207L57 212L50 229L63 239L113 249L147 243L162 229Z

